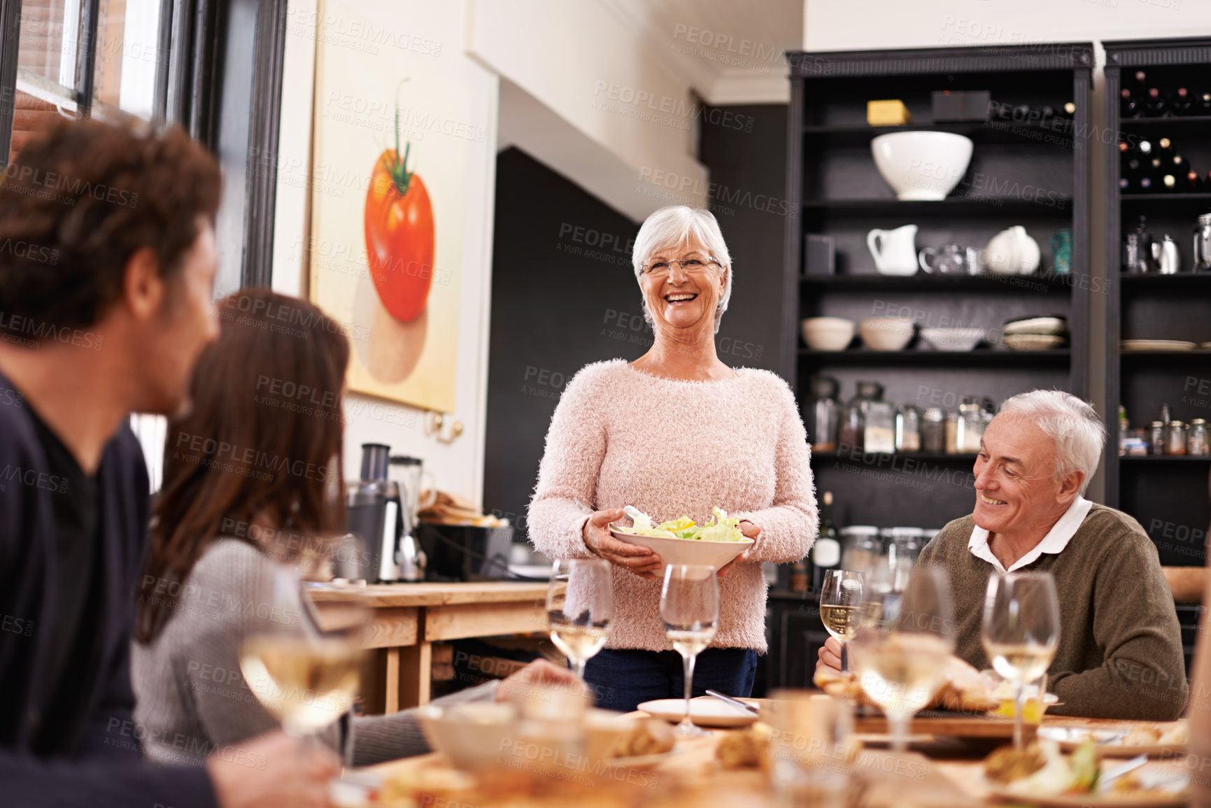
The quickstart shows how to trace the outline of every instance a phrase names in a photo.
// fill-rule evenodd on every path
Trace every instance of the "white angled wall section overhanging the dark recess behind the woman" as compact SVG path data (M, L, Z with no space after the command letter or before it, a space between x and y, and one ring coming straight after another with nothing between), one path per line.
M666 44L608 0L469 0L467 50L522 93L506 94L517 143L631 218L705 205L689 80ZM528 96L528 97L527 97Z

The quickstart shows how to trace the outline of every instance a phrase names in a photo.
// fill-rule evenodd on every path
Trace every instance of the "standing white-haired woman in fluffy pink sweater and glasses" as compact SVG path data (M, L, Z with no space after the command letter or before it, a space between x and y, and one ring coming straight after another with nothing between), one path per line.
M635 362L595 362L568 383L547 432L529 535L553 558L614 565L614 625L585 678L601 706L632 710L682 697L684 678L660 621L660 556L613 538L608 523L625 505L658 521L702 523L713 508L737 516L754 543L718 572L718 631L693 684L695 694L746 697L765 652L761 562L802 558L816 534L803 422L780 377L734 369L716 355L733 273L708 211L656 211L632 260L655 339Z

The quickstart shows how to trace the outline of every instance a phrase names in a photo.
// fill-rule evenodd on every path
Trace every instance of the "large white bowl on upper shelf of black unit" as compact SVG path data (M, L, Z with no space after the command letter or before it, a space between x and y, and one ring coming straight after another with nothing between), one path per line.
M971 162L971 139L953 132L891 132L871 141L874 166L899 200L942 200Z

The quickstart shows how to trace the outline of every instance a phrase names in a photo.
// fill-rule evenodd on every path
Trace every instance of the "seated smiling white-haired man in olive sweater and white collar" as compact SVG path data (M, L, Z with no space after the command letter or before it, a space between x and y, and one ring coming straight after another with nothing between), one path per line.
M1182 637L1157 548L1132 517L1081 494L1106 429L1094 407L1058 390L1005 401L980 442L976 506L947 525L918 563L946 569L955 654L988 667L980 640L988 577L1020 569L1055 577L1060 647L1049 712L1165 721L1186 706ZM820 665L836 667L830 641Z

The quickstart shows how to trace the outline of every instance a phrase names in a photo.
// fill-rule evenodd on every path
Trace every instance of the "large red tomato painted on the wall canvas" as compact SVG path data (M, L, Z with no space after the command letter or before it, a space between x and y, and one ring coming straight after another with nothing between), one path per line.
M434 207L425 183L398 151L374 164L366 191L366 256L379 299L392 317L412 322L425 310L434 280Z

